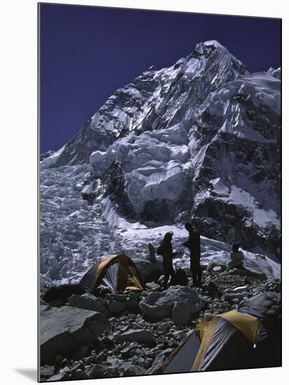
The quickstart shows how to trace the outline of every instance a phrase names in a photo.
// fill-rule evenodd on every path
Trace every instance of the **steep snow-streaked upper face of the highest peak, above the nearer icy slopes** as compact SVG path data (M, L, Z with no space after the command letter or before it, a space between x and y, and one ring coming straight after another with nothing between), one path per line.
M210 92L248 74L246 66L218 41L199 43L176 64L160 70L150 66L116 90L58 156L46 163L50 167L87 163L93 151L105 151L129 133L194 120L196 109Z

